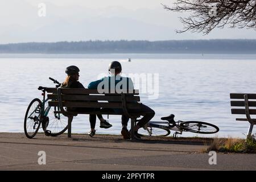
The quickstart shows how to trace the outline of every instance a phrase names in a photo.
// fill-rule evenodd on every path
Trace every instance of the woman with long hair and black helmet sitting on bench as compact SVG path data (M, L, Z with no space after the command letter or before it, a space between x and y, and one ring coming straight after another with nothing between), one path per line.
M79 80L79 68L72 65L66 68L65 73L67 73L67 77L65 78L65 81L61 84L62 88L84 88L84 86L78 81ZM86 108L86 107L76 107L75 110L79 111L97 111L96 108ZM101 114L97 114L98 119L100 119L100 127L108 129L109 127L112 127L109 122L107 122ZM90 137L93 137L95 135L95 125L96 125L96 114L90 114L89 116L90 121L90 131L89 135Z

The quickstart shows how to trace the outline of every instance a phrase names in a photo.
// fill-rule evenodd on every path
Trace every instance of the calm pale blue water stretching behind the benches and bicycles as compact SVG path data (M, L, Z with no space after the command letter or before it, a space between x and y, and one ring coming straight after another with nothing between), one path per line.
M54 86L48 77L63 81L65 68L77 65L80 82L87 86L100 74L108 74L113 60L121 60L126 74L159 73L158 99L148 100L146 94L141 98L155 110L154 121L173 113L176 119L217 125L218 137L245 137L249 123L237 122L230 114L229 93L256 92L256 55L0 55L0 132L23 132L28 104L35 97L42 98L38 86ZM112 128L100 129L97 120L96 133L119 134L121 116L110 115L109 122ZM75 117L72 132L88 131L88 115Z

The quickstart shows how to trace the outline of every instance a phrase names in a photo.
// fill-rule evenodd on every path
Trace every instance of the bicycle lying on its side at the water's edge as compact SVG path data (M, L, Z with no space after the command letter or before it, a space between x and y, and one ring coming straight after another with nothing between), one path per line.
M144 127L138 130L142 137L146 136L168 136L171 131L175 131L174 138L181 135L183 131L189 131L199 134L213 134L219 131L218 127L210 123L201 121L174 121L174 114L168 117L162 117L164 121L150 121Z

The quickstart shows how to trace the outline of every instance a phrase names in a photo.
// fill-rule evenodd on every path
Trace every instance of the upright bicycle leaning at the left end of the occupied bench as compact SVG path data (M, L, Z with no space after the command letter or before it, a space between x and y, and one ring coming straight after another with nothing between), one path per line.
M60 87L60 82L49 77L56 85L56 88ZM38 90L42 90L43 100L35 98L28 105L26 115L24 118L24 133L27 138L35 137L36 133L42 125L44 133L48 136L55 137L64 133L68 129L68 118L61 113L59 107L50 107L47 105L46 90L43 86L39 86Z

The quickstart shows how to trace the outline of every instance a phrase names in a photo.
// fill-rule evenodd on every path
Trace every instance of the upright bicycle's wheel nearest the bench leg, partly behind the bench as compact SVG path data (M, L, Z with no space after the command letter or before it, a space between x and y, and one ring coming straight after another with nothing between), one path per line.
M56 111L60 111L59 107L50 107L47 117L42 122L43 130L51 131L51 137L63 134L68 129L68 117L55 113Z

